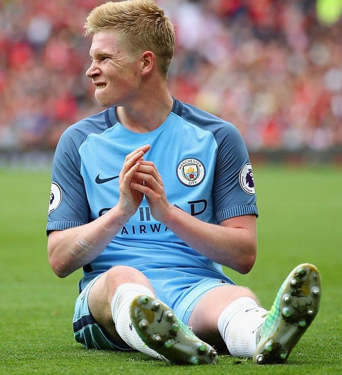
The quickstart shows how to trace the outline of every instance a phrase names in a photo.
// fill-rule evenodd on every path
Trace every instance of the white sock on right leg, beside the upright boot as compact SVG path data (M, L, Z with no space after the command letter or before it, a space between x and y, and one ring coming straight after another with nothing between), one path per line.
M232 356L253 357L257 330L266 319L266 312L254 299L240 297L221 313L217 327Z

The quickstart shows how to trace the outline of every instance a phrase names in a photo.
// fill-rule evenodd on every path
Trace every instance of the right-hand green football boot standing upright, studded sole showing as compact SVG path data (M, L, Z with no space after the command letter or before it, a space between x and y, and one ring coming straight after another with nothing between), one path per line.
M258 330L253 363L285 362L317 315L320 298L320 274L312 264L300 264L291 271Z

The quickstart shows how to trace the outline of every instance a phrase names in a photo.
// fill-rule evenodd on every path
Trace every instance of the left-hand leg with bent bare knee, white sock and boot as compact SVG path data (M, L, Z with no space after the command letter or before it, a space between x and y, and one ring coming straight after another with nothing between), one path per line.
M89 292L88 305L93 318L119 345L127 343L154 358L183 364L217 361L217 353L209 345L194 336L172 312L172 317L167 314L168 306L154 298L150 281L133 268L117 266L97 279ZM155 314L157 310L161 315ZM158 344L165 341L165 347L154 345L156 337Z

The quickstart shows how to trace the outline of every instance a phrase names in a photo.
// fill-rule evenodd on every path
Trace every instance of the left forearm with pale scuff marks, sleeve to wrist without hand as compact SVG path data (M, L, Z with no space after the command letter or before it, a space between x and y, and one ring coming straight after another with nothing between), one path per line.
M47 251L53 271L57 276L65 277L94 260L128 218L116 206L91 223L52 232L48 237Z

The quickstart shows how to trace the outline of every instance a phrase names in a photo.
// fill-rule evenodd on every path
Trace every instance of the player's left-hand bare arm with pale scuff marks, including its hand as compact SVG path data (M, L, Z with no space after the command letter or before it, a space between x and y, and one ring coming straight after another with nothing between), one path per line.
M99 256L136 212L143 194L130 184L136 181L134 174L149 149L149 145L139 147L126 157L119 175L120 198L115 207L84 226L50 233L47 253L57 276L65 277Z

